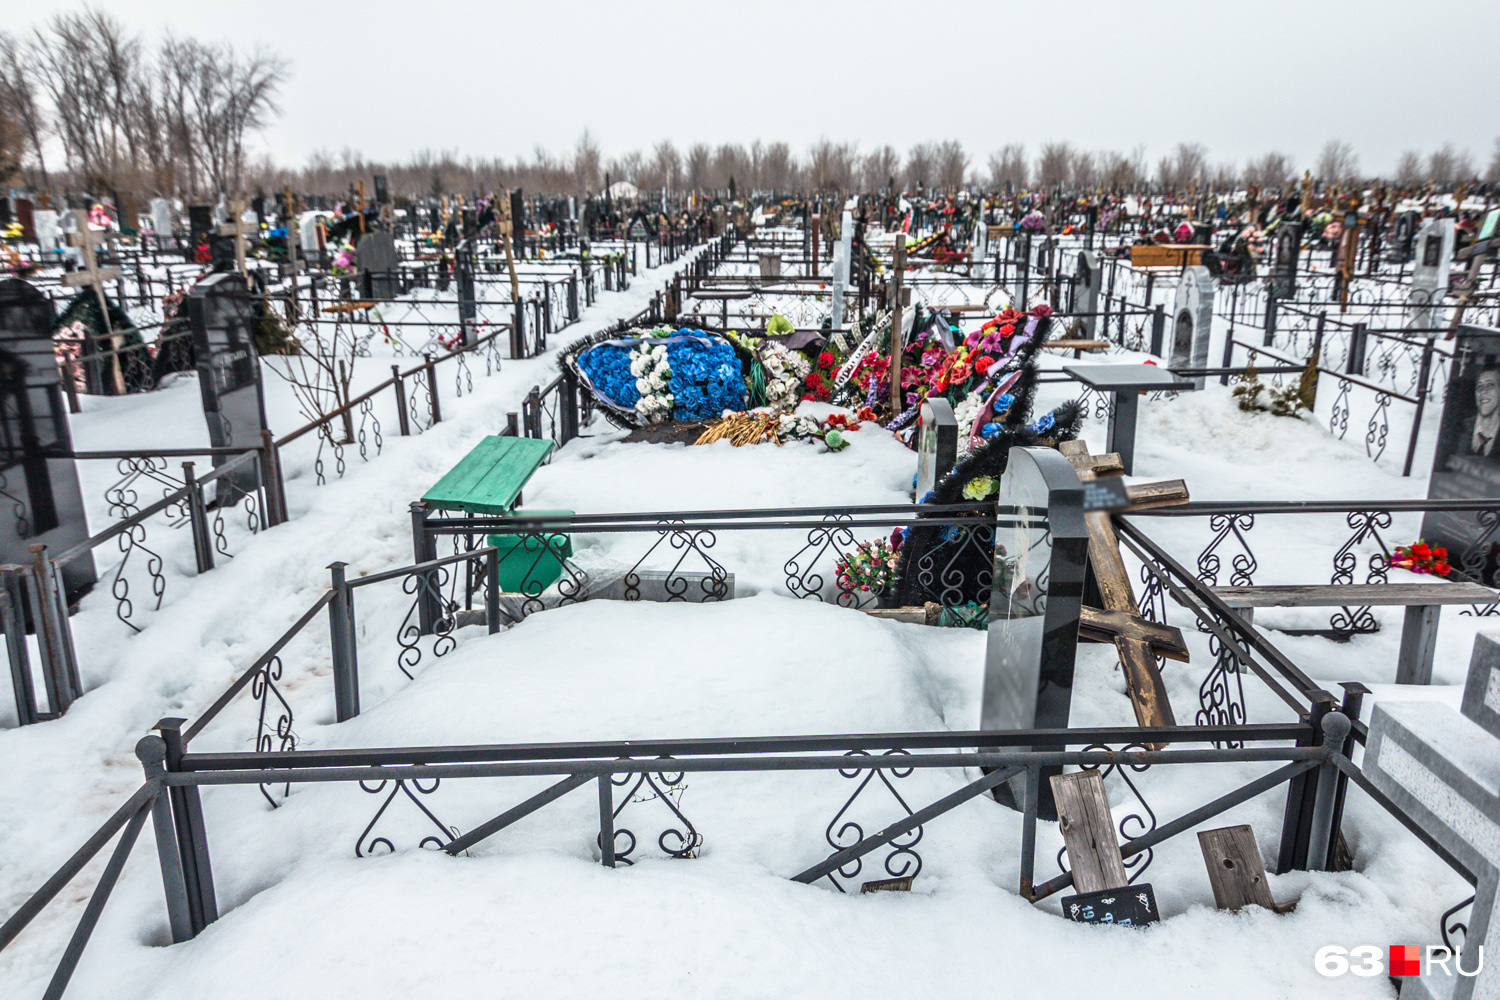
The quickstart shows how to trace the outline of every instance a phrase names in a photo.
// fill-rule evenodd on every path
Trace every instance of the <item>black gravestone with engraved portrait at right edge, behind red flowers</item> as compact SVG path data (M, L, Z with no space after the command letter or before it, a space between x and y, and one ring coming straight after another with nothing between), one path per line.
M1430 499L1500 498L1500 330L1460 327L1432 454ZM1500 514L1428 511L1422 538L1485 586L1500 586Z

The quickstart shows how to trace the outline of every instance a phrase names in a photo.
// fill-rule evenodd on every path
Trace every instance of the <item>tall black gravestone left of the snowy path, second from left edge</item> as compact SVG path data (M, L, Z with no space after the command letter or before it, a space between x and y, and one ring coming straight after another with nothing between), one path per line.
M260 324L256 301L238 271L213 274L188 295L194 351L198 358L198 388L202 414L208 421L208 441L214 448L258 448L266 429L266 399L261 391L261 363L255 354ZM236 456L213 456L213 465ZM260 474L246 463L230 477L242 492L255 490ZM236 492L220 480L219 502L232 504Z

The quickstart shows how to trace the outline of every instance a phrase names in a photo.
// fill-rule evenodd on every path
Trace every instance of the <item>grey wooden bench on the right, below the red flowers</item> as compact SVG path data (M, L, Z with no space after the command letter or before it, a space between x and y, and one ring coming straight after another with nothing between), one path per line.
M1478 583L1344 583L1320 586L1209 588L1240 612L1248 625L1257 607L1406 607L1396 684L1432 682L1432 648L1443 604L1494 604L1494 591Z

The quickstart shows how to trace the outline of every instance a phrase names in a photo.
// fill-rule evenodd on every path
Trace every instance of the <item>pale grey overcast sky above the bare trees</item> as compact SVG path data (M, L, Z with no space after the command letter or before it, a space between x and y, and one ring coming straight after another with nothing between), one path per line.
M33 24L78 3L40 0ZM402 159L554 153L588 127L606 156L819 136L867 151L960 139L1083 148L1202 142L1212 163L1268 150L1311 166L1341 138L1360 168L1454 142L1480 169L1500 135L1492 0L952 1L110 0L166 28L292 63L272 154ZM27 25L12 10L10 30Z

